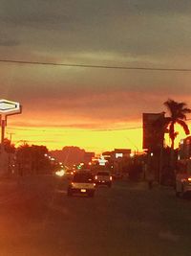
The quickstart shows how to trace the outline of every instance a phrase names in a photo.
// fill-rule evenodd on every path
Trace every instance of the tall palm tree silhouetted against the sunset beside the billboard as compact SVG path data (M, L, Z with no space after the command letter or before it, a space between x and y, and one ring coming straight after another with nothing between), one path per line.
M174 150L175 138L178 132L175 131L175 124L179 124L183 128L186 135L190 133L188 126L186 125L186 114L191 113L191 109L186 107L185 103L177 103L171 99L168 99L164 103L170 112L168 120L169 137L171 139L171 149Z

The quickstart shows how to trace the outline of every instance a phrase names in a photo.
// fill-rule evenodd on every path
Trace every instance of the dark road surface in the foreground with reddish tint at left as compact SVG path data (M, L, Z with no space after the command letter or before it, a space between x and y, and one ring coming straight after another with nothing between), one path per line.
M191 200L173 189L116 181L68 198L66 187L51 176L0 183L1 256L191 255Z

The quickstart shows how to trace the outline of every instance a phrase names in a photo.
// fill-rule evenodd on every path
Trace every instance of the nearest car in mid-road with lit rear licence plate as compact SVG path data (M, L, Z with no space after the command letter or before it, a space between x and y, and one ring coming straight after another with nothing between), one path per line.
M94 176L90 172L76 172L72 181L69 183L67 195L69 197L74 194L86 195L94 198L96 191L96 183Z

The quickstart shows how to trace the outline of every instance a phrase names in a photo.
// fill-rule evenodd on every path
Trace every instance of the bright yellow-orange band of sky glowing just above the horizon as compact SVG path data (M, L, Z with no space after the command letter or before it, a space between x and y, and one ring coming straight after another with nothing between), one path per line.
M61 150L65 146L77 146L86 151L113 151L114 149L131 149L142 151L142 128L127 129L79 129L79 128L50 128L50 127L14 127L6 128L7 137L11 135L15 146L23 142L29 145L45 145L48 150ZM178 147L180 139L185 137L182 128L176 127L179 135L175 146ZM12 134L11 134L12 133ZM165 142L170 146L168 134Z

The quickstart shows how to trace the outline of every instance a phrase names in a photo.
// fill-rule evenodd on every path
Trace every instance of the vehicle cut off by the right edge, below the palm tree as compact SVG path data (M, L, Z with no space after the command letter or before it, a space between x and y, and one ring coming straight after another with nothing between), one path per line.
M191 194L191 159L179 161L175 189L177 197Z

